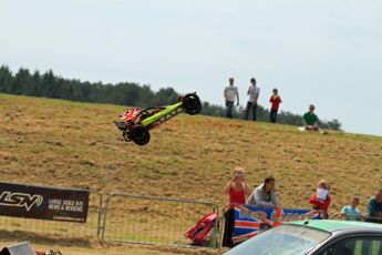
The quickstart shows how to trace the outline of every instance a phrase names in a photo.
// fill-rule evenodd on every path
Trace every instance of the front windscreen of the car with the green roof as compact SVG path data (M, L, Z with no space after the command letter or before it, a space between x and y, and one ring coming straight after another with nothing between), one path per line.
M227 255L302 255L323 242L330 233L297 225L281 225L230 249Z

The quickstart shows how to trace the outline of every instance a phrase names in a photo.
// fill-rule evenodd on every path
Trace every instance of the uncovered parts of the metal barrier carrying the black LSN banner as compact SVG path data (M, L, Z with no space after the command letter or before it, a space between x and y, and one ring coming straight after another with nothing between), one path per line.
M0 233L18 237L99 238L102 195L91 192L86 223L0 216ZM7 236L3 235L3 236Z

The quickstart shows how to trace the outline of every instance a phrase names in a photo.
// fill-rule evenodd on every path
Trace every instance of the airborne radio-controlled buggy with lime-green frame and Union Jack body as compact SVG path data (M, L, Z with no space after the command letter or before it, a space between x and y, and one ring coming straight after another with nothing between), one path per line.
M196 93L179 95L178 102L168 106L133 108L120 114L121 120L115 122L126 142L133 141L137 145L149 142L149 130L173 119L180 112L189 115L198 114L202 103Z

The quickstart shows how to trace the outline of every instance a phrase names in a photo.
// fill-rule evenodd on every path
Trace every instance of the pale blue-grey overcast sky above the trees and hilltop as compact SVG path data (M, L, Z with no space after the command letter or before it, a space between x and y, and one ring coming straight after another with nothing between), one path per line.
M250 78L269 108L338 119L382 135L380 0L0 0L0 64L154 90L197 91L223 104Z

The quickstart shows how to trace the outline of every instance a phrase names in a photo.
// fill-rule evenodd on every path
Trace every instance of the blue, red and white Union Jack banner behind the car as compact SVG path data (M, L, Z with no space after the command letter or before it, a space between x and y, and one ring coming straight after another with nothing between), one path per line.
M281 222L318 218L319 211L295 208L259 208L248 205L235 206L234 242L242 242Z

